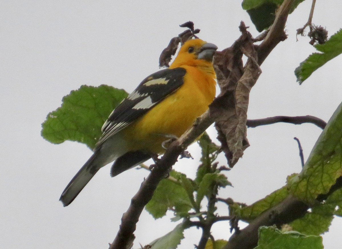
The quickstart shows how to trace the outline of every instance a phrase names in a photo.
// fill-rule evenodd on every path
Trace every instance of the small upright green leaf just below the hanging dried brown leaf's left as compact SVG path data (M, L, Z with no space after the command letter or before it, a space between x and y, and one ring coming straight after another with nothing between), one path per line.
M202 178L207 173L213 173L216 169L212 168L212 163L216 160L220 153L220 146L213 143L207 134L204 132L198 140L198 145L201 147L201 164L197 169L195 182L199 184Z

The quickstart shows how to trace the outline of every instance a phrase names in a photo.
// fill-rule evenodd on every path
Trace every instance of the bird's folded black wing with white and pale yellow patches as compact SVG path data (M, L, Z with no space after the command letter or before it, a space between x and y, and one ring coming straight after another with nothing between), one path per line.
M103 134L96 147L180 88L184 82L185 73L186 70L181 67L167 68L144 79L109 115L102 126Z

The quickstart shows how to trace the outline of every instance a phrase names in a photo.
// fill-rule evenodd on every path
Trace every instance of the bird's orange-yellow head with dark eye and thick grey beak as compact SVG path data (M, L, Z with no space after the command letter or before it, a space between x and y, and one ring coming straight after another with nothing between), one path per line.
M216 49L218 49L216 45L201 39L188 40L179 50L170 68L184 65L212 67L212 60Z

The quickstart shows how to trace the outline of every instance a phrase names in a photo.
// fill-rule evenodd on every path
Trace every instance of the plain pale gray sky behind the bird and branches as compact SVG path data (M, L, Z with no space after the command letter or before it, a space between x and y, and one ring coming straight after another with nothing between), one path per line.
M295 32L306 23L311 1L302 3L287 23L288 39L262 65L263 73L251 91L248 116L313 115L328 121L342 98L341 57L315 72L302 86L294 69L315 51L309 38ZM329 30L341 27L342 4L317 1L313 22ZM127 92L159 70L160 52L193 21L200 38L229 47L239 37L238 26L249 16L240 1L1 1L0 8L0 245L2 248L107 248L118 230L122 213L136 193L145 170L129 170L116 178L109 166L100 170L68 207L58 201L61 192L92 152L83 144L53 145L40 136L46 115L61 99L82 84L108 84ZM251 146L233 170L227 172L234 188L222 197L247 202L263 198L284 186L286 176L300 172L296 136L305 159L321 130L312 124L274 124L248 129ZM209 133L214 138L215 131ZM195 175L199 150L189 148L195 160L182 159L175 169ZM224 156L220 164L226 163ZM219 211L227 215L225 206ZM140 248L176 225L168 217L154 220L143 212L134 248ZM241 227L244 226L241 224ZM325 248L342 244L341 218L335 218L324 237ZM215 239L228 239L227 222L213 226ZM193 248L200 231L185 232L179 248Z

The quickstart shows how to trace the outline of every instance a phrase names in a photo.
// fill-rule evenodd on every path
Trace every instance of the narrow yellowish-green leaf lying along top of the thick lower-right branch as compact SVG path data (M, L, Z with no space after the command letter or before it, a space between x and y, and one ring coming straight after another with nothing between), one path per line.
M240 205L229 205L229 213L237 215L239 219L251 222L257 218L264 211L277 205L288 196L287 186L284 186L273 193L267 195L265 198L254 202L250 206L241 207Z

